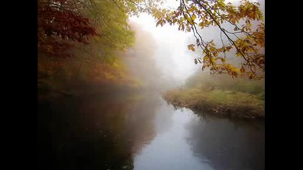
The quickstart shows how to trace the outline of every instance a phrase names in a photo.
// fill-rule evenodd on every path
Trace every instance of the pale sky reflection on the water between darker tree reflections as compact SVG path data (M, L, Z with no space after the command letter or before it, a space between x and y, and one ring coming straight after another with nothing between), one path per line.
M135 157L135 169L211 169L208 162L200 162L194 157L190 145L187 143L188 130L186 123L195 116L192 113L174 110L162 102L158 115L168 115L169 127L157 132L157 136L145 146ZM157 126L157 123L155 123ZM160 129L160 128L158 128Z

